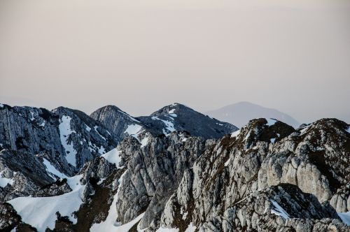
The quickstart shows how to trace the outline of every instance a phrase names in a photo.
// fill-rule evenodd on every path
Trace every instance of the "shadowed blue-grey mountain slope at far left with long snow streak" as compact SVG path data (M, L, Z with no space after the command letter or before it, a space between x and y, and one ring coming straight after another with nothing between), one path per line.
M0 108L1 149L46 154L55 168L73 175L90 161L117 145L104 126L78 110L59 107Z

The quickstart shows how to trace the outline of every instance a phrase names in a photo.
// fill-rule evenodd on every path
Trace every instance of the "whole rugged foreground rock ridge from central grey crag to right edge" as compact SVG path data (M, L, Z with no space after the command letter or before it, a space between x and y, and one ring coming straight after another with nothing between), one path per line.
M145 212L138 226L148 231L349 231L335 212L348 211L348 128L321 119L295 131L274 119L254 119L221 140L181 140L174 133L134 145L122 153L128 173L117 221ZM178 165L169 165L171 159Z

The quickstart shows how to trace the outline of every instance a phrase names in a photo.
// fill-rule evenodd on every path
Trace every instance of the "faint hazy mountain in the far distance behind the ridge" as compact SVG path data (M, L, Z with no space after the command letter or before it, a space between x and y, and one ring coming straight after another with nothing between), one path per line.
M278 119L294 128L300 126L300 122L297 122L296 119L286 113L272 108L265 108L248 101L241 101L229 106L224 106L223 108L218 108L217 110L210 110L207 112L207 115L223 120L224 122L229 122L238 127L244 126L251 119L260 117Z

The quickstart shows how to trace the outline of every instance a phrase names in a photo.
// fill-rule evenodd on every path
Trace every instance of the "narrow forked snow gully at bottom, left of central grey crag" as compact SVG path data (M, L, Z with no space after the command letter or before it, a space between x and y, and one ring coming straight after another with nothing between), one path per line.
M132 228L132 226L134 226L134 224L136 224L137 222L139 222L139 220L144 216L139 215L139 217L137 217L136 219L132 220L132 222L129 222L127 224L124 225L120 225L120 222L116 222L116 218L118 217L118 212L117 212L117 208L116 208L116 203L118 201L118 194L120 191L120 186L123 182L123 178L124 175L127 173L127 171L125 171L123 173L123 175L120 176L119 180L118 180L118 190L116 195L113 196L113 202L111 204L111 207L109 208L109 214L106 218L106 220L104 222L98 223L98 224L93 224L90 228L90 232L99 232L99 231L106 231L106 232L126 232L129 231L130 228ZM138 219L138 220L137 220ZM133 224L132 224L133 223Z

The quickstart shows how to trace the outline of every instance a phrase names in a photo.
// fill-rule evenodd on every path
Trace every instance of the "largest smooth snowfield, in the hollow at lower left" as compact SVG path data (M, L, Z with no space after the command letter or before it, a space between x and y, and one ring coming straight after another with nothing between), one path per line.
M80 184L81 177L83 175L67 178L67 183L73 190L67 194L49 197L18 197L8 201L8 203L13 205L23 222L31 224L39 232L45 231L47 227L55 228L57 211L62 216L68 216L69 220L76 224L77 220L72 213L77 211L83 203L80 196L83 194L85 186Z

